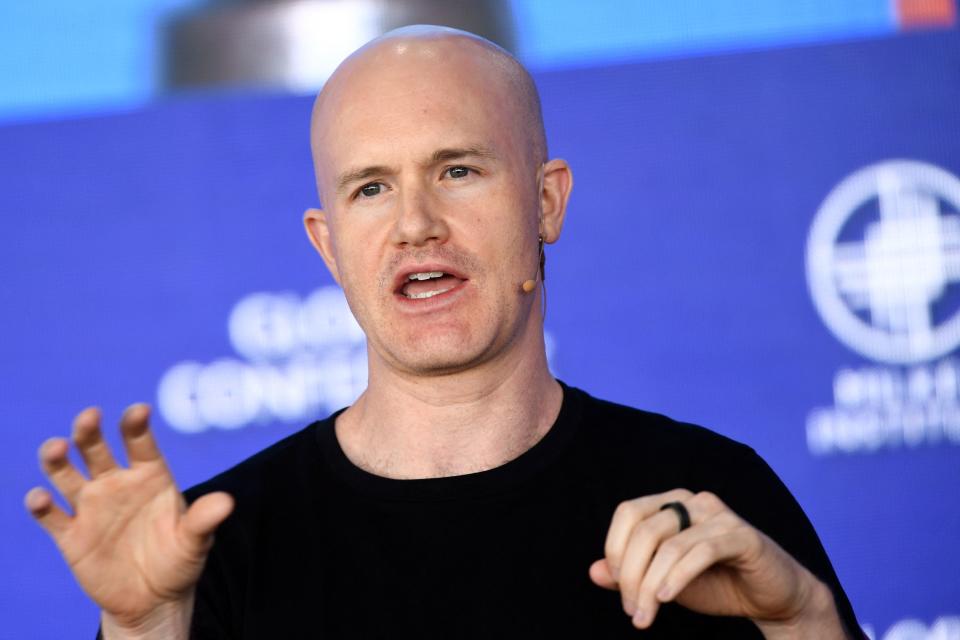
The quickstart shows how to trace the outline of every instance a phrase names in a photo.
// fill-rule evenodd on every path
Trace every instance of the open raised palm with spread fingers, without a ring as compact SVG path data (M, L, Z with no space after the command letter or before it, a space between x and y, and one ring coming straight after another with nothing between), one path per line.
M72 439L89 478L67 458L66 439L51 438L40 447L40 466L73 514L40 487L24 502L103 610L105 631L147 637L166 629L164 637L170 637L171 625L184 619L189 625L213 532L230 515L233 499L211 493L187 508L150 433L149 414L142 404L124 412L120 431L130 463L124 468L103 440L99 410L81 411Z

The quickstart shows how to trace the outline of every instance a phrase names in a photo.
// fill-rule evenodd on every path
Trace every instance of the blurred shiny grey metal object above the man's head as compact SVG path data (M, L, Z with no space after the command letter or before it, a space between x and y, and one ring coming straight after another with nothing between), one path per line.
M234 0L167 27L165 85L315 90L354 49L407 24L514 44L508 0Z

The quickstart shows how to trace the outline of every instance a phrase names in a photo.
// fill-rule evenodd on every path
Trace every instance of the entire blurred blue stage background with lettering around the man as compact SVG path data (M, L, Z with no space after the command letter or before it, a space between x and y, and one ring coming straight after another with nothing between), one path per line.
M21 506L76 410L152 402L188 486L363 388L310 105L424 22L514 51L573 165L556 374L756 448L872 638L960 638L955 0L0 4L0 637L95 630Z

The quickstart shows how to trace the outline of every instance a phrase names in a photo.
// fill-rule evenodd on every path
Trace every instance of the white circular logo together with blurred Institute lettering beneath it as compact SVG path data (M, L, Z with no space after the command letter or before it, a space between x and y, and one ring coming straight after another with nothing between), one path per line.
M834 406L807 419L815 454L960 443L960 179L881 162L844 179L807 243L814 304L833 334L876 365L839 370ZM865 222L862 229L850 224Z

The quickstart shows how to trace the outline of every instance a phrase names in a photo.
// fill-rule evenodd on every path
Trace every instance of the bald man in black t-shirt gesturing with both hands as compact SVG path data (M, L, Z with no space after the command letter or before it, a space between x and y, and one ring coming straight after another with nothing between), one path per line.
M189 508L142 405L120 425L128 469L95 409L73 431L89 479L44 443L74 514L39 488L27 508L105 637L859 637L750 449L551 376L537 293L572 177L516 60L392 32L327 82L311 137L324 209L304 223L369 386Z

